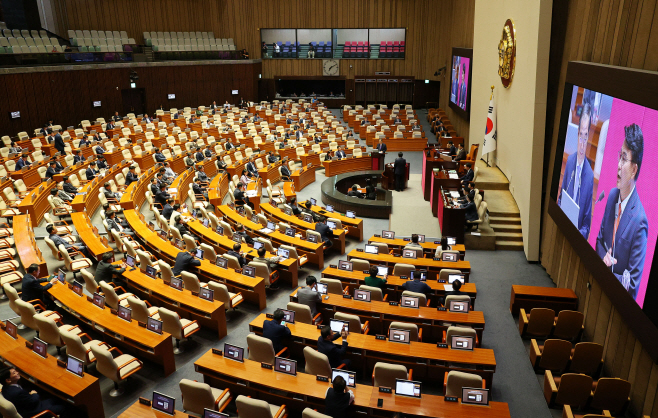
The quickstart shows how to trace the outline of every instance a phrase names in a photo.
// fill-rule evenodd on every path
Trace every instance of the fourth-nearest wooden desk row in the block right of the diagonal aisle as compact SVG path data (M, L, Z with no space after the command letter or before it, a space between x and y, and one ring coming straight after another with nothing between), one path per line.
M362 271L345 271L339 270L335 266L329 266L322 271L322 277L328 279L337 279L343 283L343 286L348 286L350 293L354 292L354 289L358 289L359 286L365 284L365 279L368 274ZM399 276L388 275L386 277L386 287L384 294L389 295L389 300L400 300L402 297L402 292L404 285L408 280L402 279ZM425 283L432 289L433 293L430 295L430 305L439 306L439 301L445 297L446 287L450 287L452 290L452 285L447 283L439 283L436 280L427 280ZM467 293L471 297L471 308L475 307L475 299L477 297L477 288L475 283L464 283L461 287L461 291Z

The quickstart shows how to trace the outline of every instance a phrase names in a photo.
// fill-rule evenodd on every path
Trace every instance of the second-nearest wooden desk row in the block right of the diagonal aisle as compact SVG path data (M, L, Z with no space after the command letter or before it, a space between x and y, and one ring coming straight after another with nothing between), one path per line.
M249 331L263 334L265 314L258 315L249 323ZM317 346L320 330L315 325L296 322L287 324L292 333L292 342L288 343L293 358L304 358L304 347ZM491 388L493 374L496 371L496 358L491 349L475 348L473 351L438 348L436 344L412 341L410 344L377 340L374 335L350 333L347 337L349 347L347 356L352 359L352 369L360 370L366 376L372 374L375 363L385 361L402 364L413 369L414 380L433 381L443 384L444 373L459 370L474 373L487 380Z

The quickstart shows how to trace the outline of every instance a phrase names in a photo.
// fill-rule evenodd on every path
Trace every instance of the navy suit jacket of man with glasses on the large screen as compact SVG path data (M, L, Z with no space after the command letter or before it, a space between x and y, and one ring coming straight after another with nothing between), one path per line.
M612 234L615 225L615 213L617 211L617 200L619 199L619 189L610 190L608 201L605 204L605 212L601 220L601 229L596 238L596 252L599 257L603 258L605 253L612 246ZM628 293L635 299L640 288L642 272L644 270L644 259L647 251L647 234L649 222L647 215L644 213L644 206L637 194L637 187L631 193L626 203L626 208L621 214L619 225L617 226L617 235L615 235L615 245L612 256L617 259L617 264L613 264L612 273L617 280L622 281L624 270L628 270L631 275L631 284Z

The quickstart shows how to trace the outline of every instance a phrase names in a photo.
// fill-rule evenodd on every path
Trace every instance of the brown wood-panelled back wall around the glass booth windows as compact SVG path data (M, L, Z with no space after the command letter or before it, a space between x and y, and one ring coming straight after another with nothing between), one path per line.
M473 47L475 0L53 0L65 13L67 29L125 30L139 43L145 31L212 31L233 38L238 48L260 57L261 28L406 28L406 59L341 61L340 73L391 71L449 84L434 72L448 66L451 48ZM99 19L99 17L102 17ZM262 77L322 75L321 60L266 60ZM439 102L460 134L469 123L448 108L448 89Z

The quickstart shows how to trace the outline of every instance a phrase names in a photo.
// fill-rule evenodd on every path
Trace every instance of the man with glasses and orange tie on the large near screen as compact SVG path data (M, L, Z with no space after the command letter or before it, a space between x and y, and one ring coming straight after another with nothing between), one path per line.
M635 184L640 175L644 137L636 124L624 128L617 163L617 187L610 190L596 252L635 299L644 268L649 223Z

